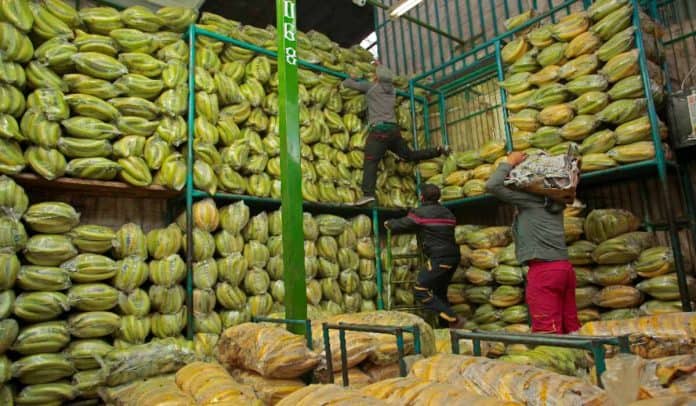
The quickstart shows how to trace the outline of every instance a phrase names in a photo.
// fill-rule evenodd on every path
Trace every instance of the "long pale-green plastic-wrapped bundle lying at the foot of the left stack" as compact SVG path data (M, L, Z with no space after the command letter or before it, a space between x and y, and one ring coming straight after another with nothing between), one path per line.
M113 350L101 361L101 373L108 386L174 372L195 359L185 341L163 339L126 349Z

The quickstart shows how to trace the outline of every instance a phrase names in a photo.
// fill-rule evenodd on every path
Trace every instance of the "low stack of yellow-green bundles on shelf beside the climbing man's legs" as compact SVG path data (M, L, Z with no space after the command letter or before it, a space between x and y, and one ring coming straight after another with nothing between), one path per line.
M486 181L505 159L504 155L505 143L493 140L478 149L420 163L418 170L423 182L442 189L442 200L479 196L486 193Z

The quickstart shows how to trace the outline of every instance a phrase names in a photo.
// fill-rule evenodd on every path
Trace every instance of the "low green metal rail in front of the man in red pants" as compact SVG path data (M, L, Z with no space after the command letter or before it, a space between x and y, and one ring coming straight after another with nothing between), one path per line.
M475 356L481 356L481 341L494 341L505 344L548 345L552 347L577 348L590 351L595 361L595 373L597 382L602 385L602 374L607 369L605 345L619 347L622 353L630 353L628 336L599 337L599 336L570 336L555 334L522 334L522 333L495 333L479 331L450 330L452 341L452 353L459 354L459 341L469 339L473 344Z

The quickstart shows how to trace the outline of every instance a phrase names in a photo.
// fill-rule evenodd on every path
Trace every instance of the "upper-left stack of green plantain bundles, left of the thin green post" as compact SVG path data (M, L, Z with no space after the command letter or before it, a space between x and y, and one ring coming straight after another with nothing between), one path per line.
M189 52L181 32L196 12L78 12L61 0L9 0L0 14L7 21L0 23L2 173L28 165L49 180L119 176L135 186L183 188L176 148L187 140Z

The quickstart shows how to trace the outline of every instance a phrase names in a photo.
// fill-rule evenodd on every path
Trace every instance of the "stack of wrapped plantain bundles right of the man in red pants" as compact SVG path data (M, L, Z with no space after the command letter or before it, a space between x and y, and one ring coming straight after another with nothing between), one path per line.
M640 221L632 213L602 209L586 219L565 219L581 322L680 311L672 250L657 245L652 233L638 231ZM694 280L687 281L694 292Z

